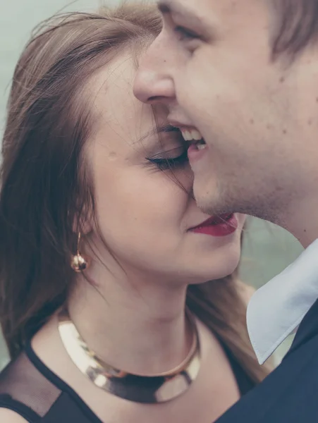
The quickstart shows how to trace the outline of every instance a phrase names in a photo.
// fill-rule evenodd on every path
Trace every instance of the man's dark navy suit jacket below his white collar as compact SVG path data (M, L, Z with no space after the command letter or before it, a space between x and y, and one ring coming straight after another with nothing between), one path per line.
M318 422L318 300L274 372L216 423Z

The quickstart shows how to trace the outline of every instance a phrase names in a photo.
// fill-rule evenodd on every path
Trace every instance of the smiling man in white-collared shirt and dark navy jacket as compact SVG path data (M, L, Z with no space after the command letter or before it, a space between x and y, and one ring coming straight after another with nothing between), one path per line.
M306 248L247 310L259 362L300 325L291 350L218 423L318 422L318 0L159 9L164 28L135 95L169 106L190 146L198 204L277 223Z

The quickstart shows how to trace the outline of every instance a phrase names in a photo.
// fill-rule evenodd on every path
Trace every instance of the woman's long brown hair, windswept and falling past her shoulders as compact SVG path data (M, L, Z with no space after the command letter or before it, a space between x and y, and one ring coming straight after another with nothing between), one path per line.
M47 20L13 75L2 147L0 321L16 357L74 282L73 222L94 214L85 141L92 130L82 87L119 51L137 53L161 30L153 6L124 4ZM254 381L266 372L252 353L236 276L188 290L188 305Z

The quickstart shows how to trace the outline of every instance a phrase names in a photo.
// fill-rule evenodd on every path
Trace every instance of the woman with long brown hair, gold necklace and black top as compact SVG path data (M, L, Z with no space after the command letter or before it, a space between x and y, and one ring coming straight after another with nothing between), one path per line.
M18 62L1 173L1 422L210 423L265 374L235 276L245 217L200 212L181 134L133 97L160 25L137 5L64 16Z

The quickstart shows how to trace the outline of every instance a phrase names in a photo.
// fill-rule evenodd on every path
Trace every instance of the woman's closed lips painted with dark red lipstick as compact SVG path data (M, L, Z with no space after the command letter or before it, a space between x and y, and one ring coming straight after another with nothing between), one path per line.
M221 216L212 216L200 225L191 228L189 231L194 233L203 233L212 236L231 235L238 228L238 219L235 214L223 214Z

